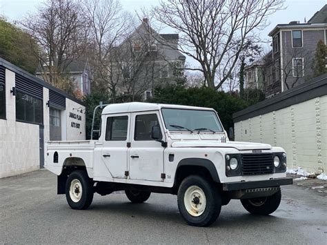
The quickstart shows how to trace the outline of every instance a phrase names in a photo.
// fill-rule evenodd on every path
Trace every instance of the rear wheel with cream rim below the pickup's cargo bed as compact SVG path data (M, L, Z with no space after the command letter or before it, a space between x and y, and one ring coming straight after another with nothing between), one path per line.
M75 186L74 186L75 183ZM71 188L75 188L72 193ZM76 192L79 193L76 193ZM83 170L72 172L66 182L66 199L72 209L87 209L93 200L94 190L93 181L88 177L88 173Z

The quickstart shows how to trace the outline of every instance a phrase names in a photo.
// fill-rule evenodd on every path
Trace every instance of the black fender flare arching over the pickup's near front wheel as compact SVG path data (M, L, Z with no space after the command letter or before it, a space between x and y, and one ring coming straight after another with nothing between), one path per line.
M214 182L220 183L219 175L217 173L217 168L215 167L215 164L213 164L212 161L204 158L184 158L179 161L177 168L176 168L176 173L178 172L179 167L181 166L199 166L206 168L206 170L209 171L212 179ZM175 175L175 182L177 182L177 175Z

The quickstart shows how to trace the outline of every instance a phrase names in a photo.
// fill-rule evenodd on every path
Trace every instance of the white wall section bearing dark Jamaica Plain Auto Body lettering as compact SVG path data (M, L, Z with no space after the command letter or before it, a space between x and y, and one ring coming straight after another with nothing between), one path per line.
M80 110L83 110L83 112L80 112ZM81 116L81 120L70 117L70 112ZM84 112L85 106L66 98L66 140L86 139L86 115ZM75 123L75 126L79 124L79 128L72 126L72 123Z

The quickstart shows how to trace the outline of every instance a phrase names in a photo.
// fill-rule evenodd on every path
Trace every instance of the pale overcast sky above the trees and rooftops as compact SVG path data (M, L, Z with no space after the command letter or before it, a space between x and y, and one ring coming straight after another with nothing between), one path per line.
M8 18L10 21L20 20L28 13L37 10L37 6L44 0L0 0L0 15ZM143 7L155 6L159 0L121 0L121 4L125 10L130 12L140 11ZM286 0L285 10L275 12L269 18L269 26L261 31L261 39L268 39L268 33L278 23L289 23L290 21L304 22L304 18L308 21L310 17L320 10L327 0ZM172 32L166 29L164 32Z

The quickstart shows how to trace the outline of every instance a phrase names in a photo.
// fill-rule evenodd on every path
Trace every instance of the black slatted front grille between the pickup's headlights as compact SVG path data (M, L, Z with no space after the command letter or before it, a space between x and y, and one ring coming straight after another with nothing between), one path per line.
M273 154L242 154L243 175L265 175L273 170Z

